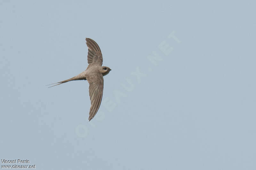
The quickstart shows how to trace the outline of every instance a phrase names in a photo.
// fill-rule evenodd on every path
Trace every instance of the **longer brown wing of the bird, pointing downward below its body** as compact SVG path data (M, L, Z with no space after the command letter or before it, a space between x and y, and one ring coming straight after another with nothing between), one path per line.
M86 77L89 82L89 95L91 100L91 108L89 113L89 121L96 115L99 110L102 94L103 94L103 76L102 74L93 74Z

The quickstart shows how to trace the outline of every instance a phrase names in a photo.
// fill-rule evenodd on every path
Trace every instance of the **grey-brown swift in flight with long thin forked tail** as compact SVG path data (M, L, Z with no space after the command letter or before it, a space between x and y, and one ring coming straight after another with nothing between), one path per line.
M89 64L86 70L75 77L53 84L60 85L62 83L73 80L87 80L89 83L89 95L91 100L91 108L89 113L90 121L96 115L100 108L103 94L103 76L107 75L111 69L109 67L102 66L103 59L98 44L90 38L86 38L85 40L88 47L87 60Z

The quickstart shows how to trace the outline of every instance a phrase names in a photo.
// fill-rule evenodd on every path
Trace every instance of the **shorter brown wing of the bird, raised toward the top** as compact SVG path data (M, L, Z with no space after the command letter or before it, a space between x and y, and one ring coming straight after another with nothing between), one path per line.
M88 64L100 64L100 66L102 66L102 54L100 51L100 47L98 46L98 44L93 41L90 38L86 38L86 45L88 47L88 56L87 56L87 60L88 60Z

